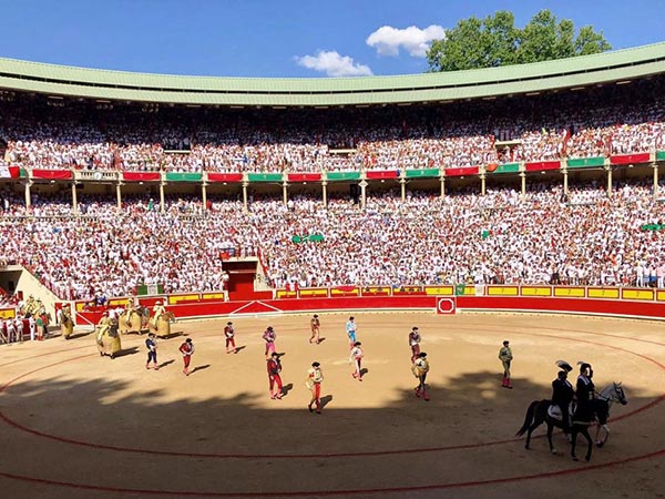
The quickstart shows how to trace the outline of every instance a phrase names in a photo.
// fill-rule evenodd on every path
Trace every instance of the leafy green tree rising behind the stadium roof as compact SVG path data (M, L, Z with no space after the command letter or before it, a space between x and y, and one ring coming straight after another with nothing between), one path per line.
M501 10L484 19L471 17L459 21L446 31L446 39L432 42L427 60L429 71L458 71L549 61L610 49L602 32L585 26L575 37L573 22L557 20L550 10L538 12L523 29L515 28L512 12Z

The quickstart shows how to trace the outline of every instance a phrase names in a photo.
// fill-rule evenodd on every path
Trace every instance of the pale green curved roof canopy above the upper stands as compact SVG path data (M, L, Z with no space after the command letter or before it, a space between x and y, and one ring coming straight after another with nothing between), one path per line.
M446 73L216 78L72 68L0 58L0 89L53 96L224 106L340 106L533 94L665 73L665 42L594 55Z

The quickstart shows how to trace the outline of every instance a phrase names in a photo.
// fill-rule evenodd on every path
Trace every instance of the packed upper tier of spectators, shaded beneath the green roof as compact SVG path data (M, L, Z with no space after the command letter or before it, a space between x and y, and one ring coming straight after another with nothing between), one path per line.
M665 149L665 83L377 109L0 104L3 162L31 169L321 172L472 166ZM108 108L108 106L105 106Z

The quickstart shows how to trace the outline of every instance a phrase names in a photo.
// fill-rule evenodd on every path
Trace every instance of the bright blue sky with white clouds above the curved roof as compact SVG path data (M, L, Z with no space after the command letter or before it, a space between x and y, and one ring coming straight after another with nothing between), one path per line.
M602 30L614 49L665 39L662 0L0 0L0 57L217 77L405 74L470 16L540 9Z

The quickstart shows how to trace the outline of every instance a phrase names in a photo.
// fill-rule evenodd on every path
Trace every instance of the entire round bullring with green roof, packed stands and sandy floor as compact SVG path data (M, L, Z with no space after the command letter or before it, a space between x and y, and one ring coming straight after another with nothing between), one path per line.
M0 59L1 496L663 497L663 95L665 43L319 81ZM515 437L561 359L627 396L589 462Z

